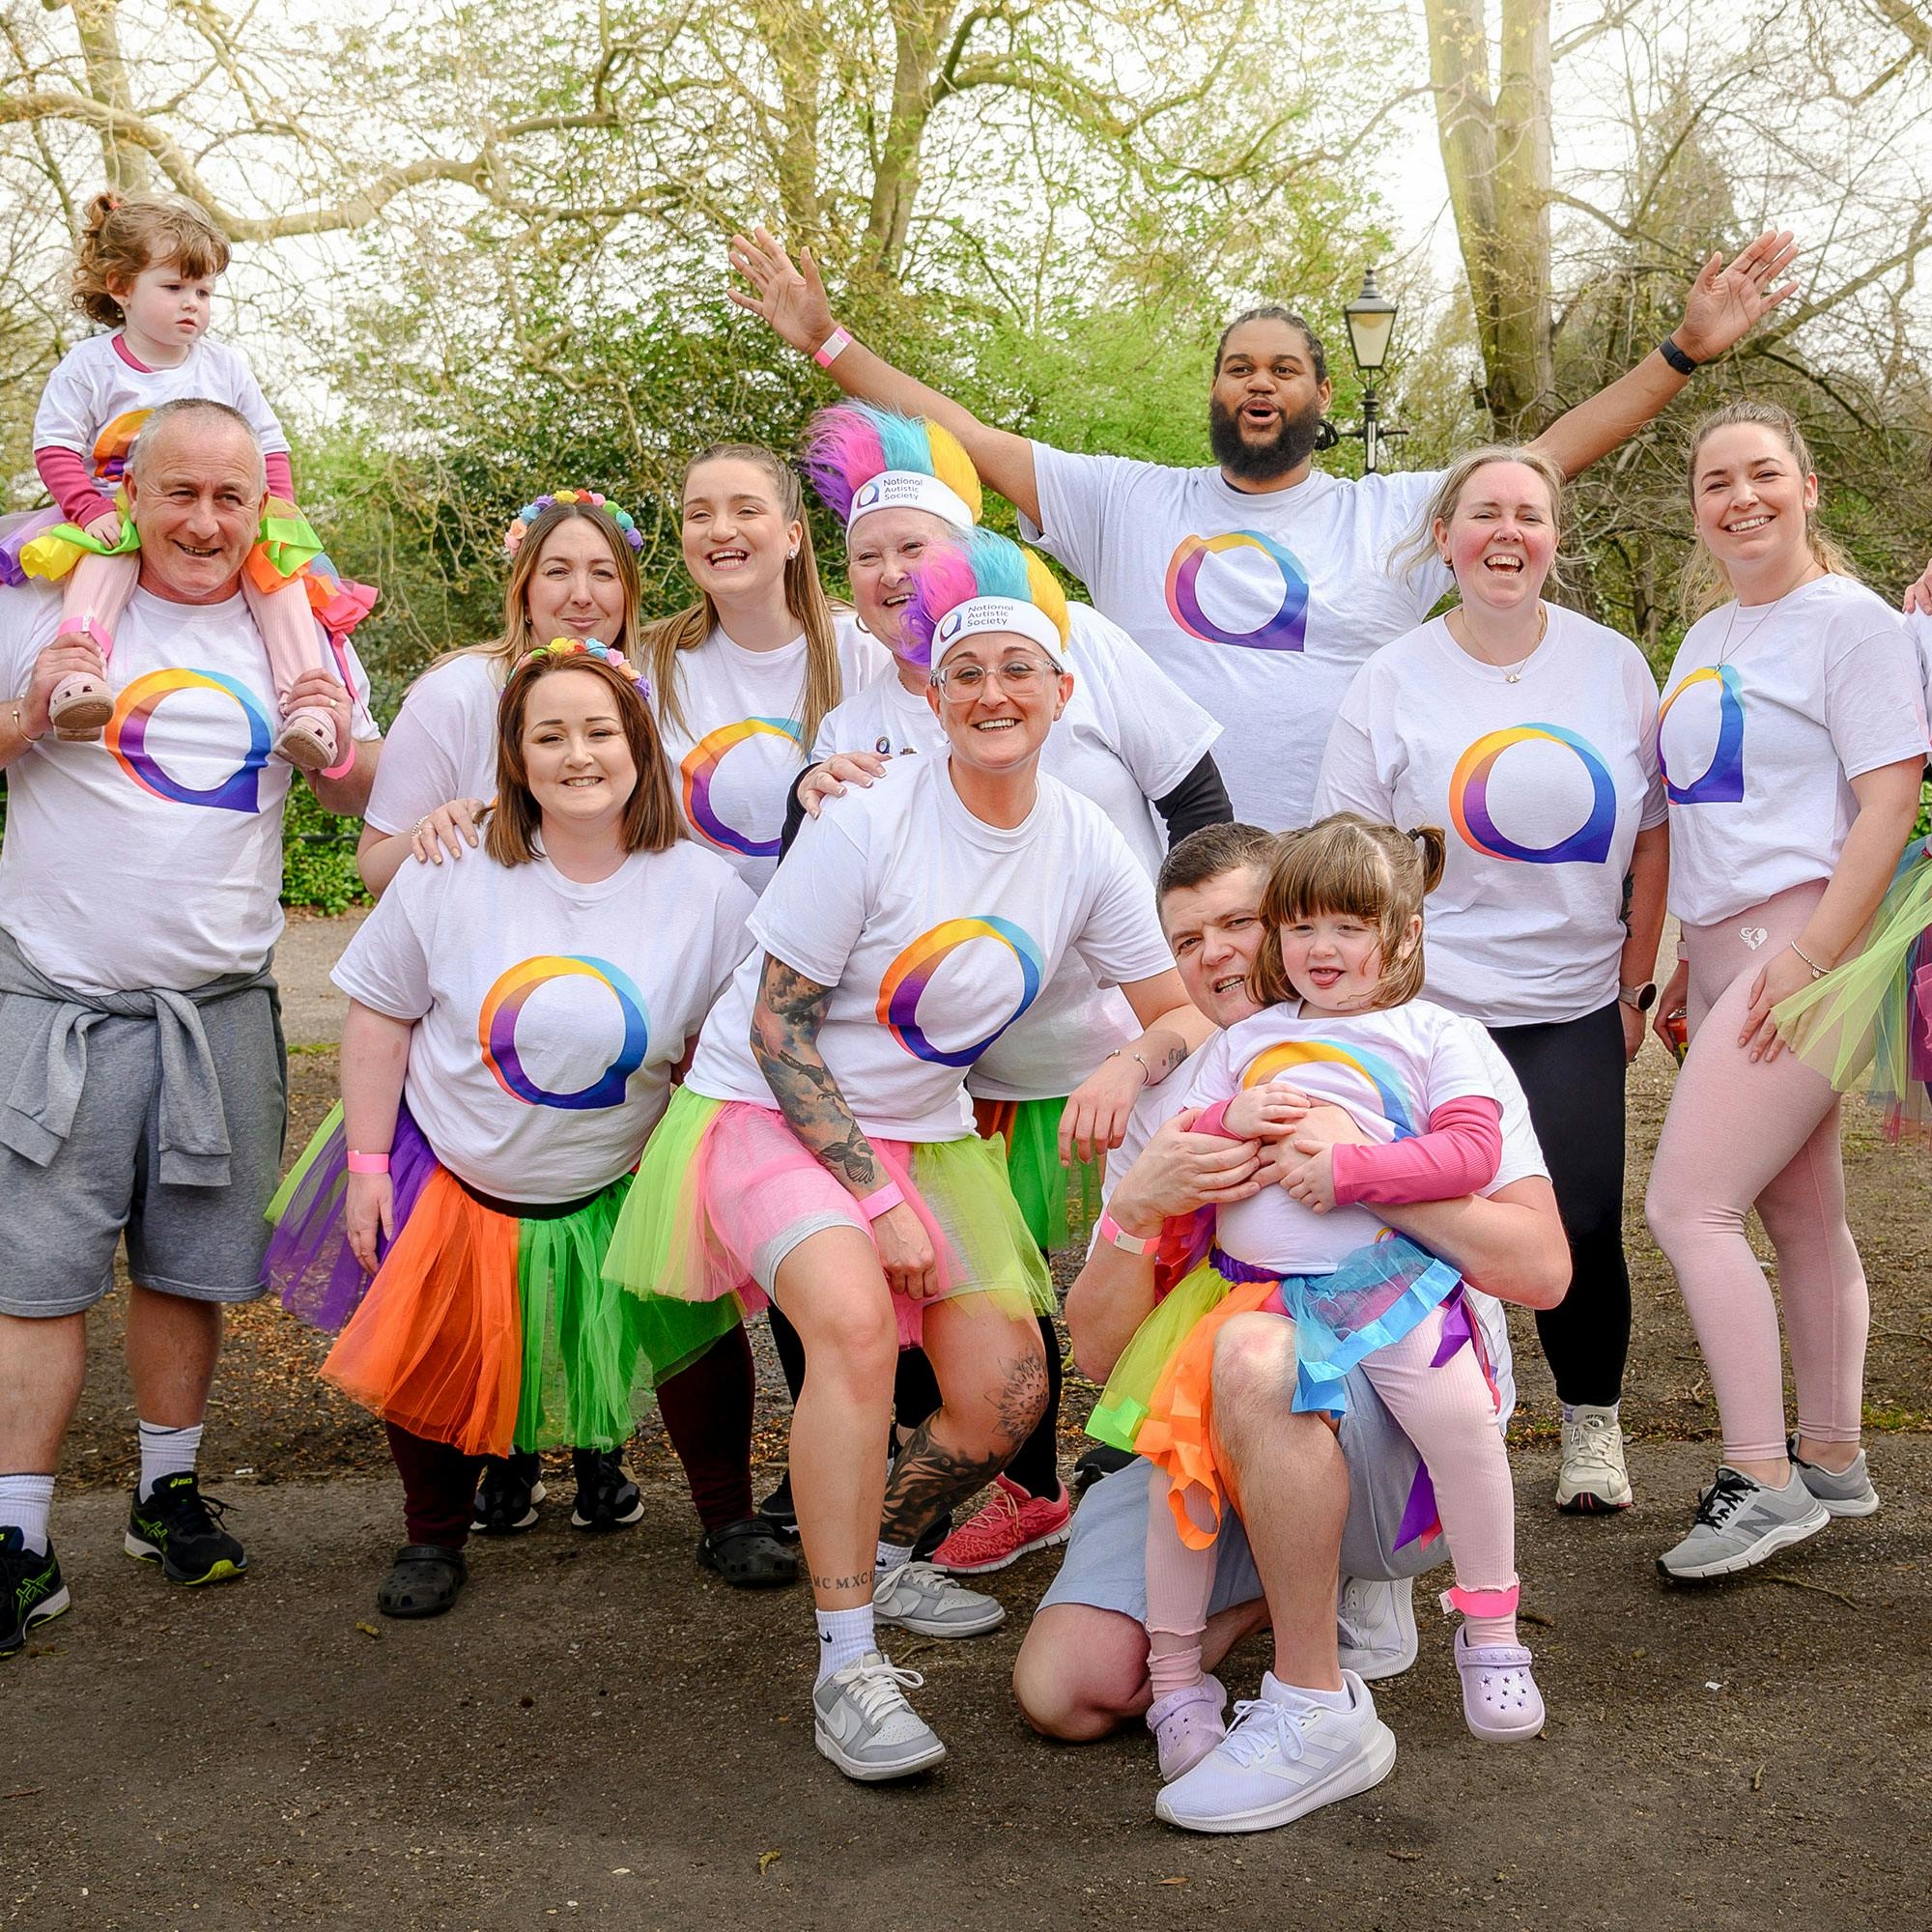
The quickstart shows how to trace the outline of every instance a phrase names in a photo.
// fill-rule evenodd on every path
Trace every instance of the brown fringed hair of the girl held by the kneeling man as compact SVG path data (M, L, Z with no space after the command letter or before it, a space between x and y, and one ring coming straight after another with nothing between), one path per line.
M1405 954L1408 922L1441 885L1447 840L1439 825L1399 833L1354 811L1335 811L1304 833L1283 833L1281 856L1262 893L1262 951L1250 991L1264 1007L1300 995L1281 964L1281 927L1314 912L1366 920L1381 931L1376 1007L1401 1007L1422 991L1422 939Z

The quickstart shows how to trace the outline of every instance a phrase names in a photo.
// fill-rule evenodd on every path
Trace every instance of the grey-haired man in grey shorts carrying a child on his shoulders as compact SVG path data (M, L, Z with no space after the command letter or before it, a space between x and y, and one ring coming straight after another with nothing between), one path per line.
M325 707L354 742L315 796L355 815L379 734L328 670L278 694L242 566L261 522L261 444L226 404L170 402L126 475L139 585L112 639L62 626L58 593L0 599L0 1656L68 1607L46 1519L81 1395L87 1316L133 1275L128 1370L141 1480L126 1548L174 1582L247 1557L195 1482L222 1304L263 1293L263 1209L286 1124L269 964L282 929L280 709ZM112 647L112 665L100 641ZM91 678L112 703L79 742L48 697Z

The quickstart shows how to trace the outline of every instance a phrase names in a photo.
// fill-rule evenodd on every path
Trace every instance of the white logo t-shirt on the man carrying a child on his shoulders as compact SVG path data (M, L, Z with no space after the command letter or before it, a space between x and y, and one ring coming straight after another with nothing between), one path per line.
M0 692L25 692L60 622L54 589L0 597ZM381 732L350 659L355 738ZM253 972L282 933L274 678L243 597L180 605L137 589L108 661L114 717L93 744L48 732L8 767L0 925L60 985L110 993Z

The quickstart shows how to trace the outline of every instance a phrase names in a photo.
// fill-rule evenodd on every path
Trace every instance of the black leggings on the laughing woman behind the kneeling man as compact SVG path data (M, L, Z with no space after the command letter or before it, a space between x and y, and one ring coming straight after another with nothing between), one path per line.
M1580 1020L1493 1026L1522 1082L1571 1244L1571 1289L1536 1314L1557 1397L1607 1408L1631 1352L1623 1258L1623 1020L1617 1001Z

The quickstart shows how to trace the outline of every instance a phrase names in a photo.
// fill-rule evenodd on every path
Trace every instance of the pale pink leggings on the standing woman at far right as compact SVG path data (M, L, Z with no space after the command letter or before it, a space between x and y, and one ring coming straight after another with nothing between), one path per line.
M1644 1211L1677 1269L1733 1463L1785 1455L1777 1306L1745 1235L1752 1206L1777 1250L1799 1430L1818 1443L1859 1439L1870 1304L1845 1223L1837 1094L1789 1053L1752 1065L1737 1043L1752 980L1822 896L1818 879L1718 925L1685 927L1690 1051Z

